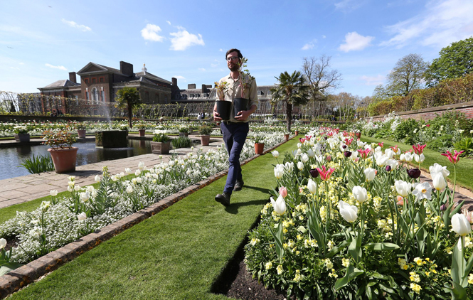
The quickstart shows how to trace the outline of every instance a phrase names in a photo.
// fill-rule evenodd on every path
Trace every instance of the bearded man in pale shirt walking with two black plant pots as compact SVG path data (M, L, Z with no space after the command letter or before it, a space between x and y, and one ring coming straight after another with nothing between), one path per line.
M253 79L248 85L243 84L243 82L248 82L249 78L248 75L243 74L240 70L242 58L243 55L238 49L230 49L225 54L230 74L220 79L219 83L227 82L228 88L225 91L225 99L217 99L217 101L231 101L232 106L230 107L230 111L233 112L233 100L240 97L243 92L243 95L248 95L248 100L250 100L248 110L241 110L235 117L230 114L229 121L222 121L220 114L216 112L217 104L213 107L213 118L217 122L221 121L220 129L222 129L223 141L225 141L225 146L228 151L228 162L230 163L227 182L225 183L225 188L223 188L223 193L215 197L216 201L225 206L230 205L230 195L232 195L232 192L240 191L243 188L240 154L250 130L248 117L256 111L258 104L256 81Z

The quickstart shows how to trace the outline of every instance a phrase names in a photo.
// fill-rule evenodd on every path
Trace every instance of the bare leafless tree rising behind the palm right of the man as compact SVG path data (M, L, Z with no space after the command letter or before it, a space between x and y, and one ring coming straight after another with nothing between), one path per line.
M321 94L327 90L339 87L341 74L337 70L330 70L330 56L321 55L319 58L312 56L303 60L302 72L309 82L312 100L319 100Z

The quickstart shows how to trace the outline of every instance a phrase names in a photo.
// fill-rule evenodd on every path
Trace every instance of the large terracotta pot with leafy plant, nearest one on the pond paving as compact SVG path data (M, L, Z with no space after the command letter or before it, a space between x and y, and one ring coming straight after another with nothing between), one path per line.
M77 141L67 129L58 132L47 130L43 132L43 144L51 146L48 152L51 154L56 173L67 173L75 171L75 161L77 160L78 147L73 147Z

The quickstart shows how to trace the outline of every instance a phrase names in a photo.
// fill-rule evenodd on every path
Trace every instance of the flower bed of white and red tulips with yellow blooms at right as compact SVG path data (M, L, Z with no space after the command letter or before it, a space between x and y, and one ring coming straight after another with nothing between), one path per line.
M405 166L414 156L421 164L423 149L383 149L324 128L282 161L274 153L279 191L250 232L250 272L297 299L471 297L471 216L445 188L445 166L430 167L433 186Z

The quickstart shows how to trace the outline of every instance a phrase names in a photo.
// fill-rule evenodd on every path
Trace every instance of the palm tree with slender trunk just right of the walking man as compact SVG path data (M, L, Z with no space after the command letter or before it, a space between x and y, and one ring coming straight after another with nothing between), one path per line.
M286 102L286 124L287 132L291 132L292 105L305 105L309 100L309 85L306 84L304 75L300 71L294 71L289 75L287 71L275 77L279 82L277 87L272 88L272 102Z

